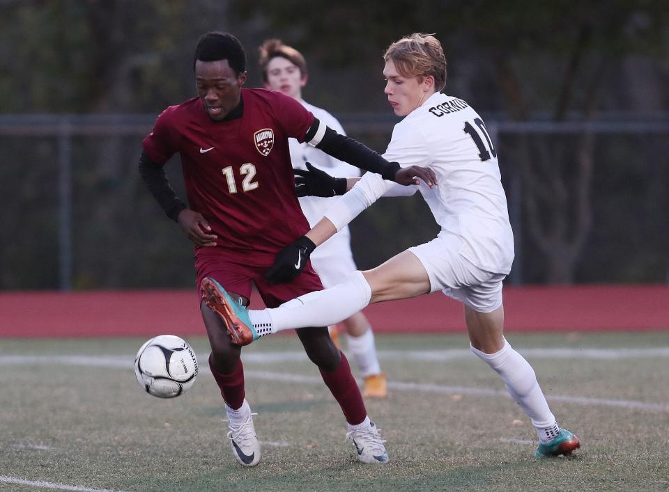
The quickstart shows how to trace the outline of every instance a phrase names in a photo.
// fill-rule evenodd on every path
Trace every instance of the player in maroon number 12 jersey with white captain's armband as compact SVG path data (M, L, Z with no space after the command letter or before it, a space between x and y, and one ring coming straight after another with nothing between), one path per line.
M295 194L289 137L387 180L417 184L420 178L429 185L435 181L429 169L400 168L337 134L292 97L242 88L245 51L229 33L201 36L193 70L198 97L169 106L157 118L153 132L142 143L139 172L167 215L195 243L198 289L203 279L211 278L234 301L247 305L254 283L270 308L323 289L310 264L289 283L270 283L265 276L284 245L309 230ZM188 206L176 196L162 168L176 153L181 158ZM307 239L301 247L311 253L315 246ZM297 262L307 256L298 253ZM233 454L241 465L255 466L261 450L245 400L241 347L235 343L240 341L231 338L235 333L228 333L217 307L208 299L200 304L211 345L209 366L225 402ZM334 346L328 329L297 333L341 406L349 433L355 431L364 444L378 450L369 462L387 461L384 441L369 420L346 356Z

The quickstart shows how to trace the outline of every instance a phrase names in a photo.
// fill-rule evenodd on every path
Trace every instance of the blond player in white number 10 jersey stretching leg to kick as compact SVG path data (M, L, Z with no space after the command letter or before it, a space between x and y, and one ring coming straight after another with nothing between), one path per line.
M336 323L369 303L441 290L463 303L472 352L500 375L532 420L539 436L535 456L569 455L580 447L578 438L557 424L534 370L502 334L502 280L511 270L514 239L497 154L486 126L469 104L440 93L446 60L432 35L415 33L394 42L383 58L385 94L395 114L404 117L395 125L384 157L401 166L429 166L436 173L436 187L408 188L422 193L440 232L432 241L409 248L375 269L357 271L335 287L310 292L275 309L237 308L226 323L229 329L243 326L257 338L286 328ZM329 178L312 174L314 189ZM347 188L353 182L348 179ZM368 173L305 237L318 246L380 196L403 191ZM286 246L277 255L273 271L293 271L297 276L294 258L301 262L300 251L295 244Z

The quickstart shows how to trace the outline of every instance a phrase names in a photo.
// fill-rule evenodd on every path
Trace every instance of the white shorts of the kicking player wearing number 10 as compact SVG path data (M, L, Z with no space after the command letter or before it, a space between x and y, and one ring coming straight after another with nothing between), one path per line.
M493 273L476 267L459 251L460 237L440 232L436 239L408 251L418 257L430 278L430 292L444 294L477 312L491 312L502 305L504 273Z

